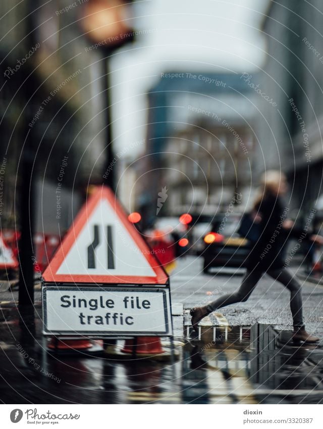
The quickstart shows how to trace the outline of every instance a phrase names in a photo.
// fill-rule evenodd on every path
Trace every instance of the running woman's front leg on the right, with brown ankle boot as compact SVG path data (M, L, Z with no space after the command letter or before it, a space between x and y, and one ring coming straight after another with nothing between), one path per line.
M294 326L294 341L304 341L307 343L316 343L319 338L311 336L305 330L303 320L303 302L302 302L302 286L296 280L295 276L289 272L285 267L275 270L268 270L267 274L275 278L290 291L290 308L293 317Z

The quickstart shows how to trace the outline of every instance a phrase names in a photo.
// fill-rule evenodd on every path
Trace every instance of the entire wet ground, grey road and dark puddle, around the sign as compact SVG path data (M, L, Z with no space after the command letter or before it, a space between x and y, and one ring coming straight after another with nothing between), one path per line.
M299 269L292 270L297 275ZM302 347L290 342L289 292L270 277L263 277L247 302L204 319L200 335L194 335L189 308L234 291L240 281L241 273L234 271L203 274L200 258L178 260L171 275L176 356L164 361L132 355L121 360L105 354L102 342L92 350L48 353L48 340L41 333L38 287L32 313L18 312L17 291L0 292L0 400L7 404L323 403L323 341ZM306 327L323 339L323 288L306 281L303 297ZM169 339L161 338L161 343L169 349ZM112 347L121 350L123 341Z

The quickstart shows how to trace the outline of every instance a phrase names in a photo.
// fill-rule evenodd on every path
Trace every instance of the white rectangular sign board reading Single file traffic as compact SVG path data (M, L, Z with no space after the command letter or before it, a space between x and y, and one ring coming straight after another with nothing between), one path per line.
M171 336L168 287L45 286L44 335Z

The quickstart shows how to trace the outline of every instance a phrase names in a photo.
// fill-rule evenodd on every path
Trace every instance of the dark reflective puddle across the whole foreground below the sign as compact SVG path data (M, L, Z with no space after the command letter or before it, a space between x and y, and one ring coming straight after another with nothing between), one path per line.
M3 313L6 322L0 323L3 403L323 402L322 348L292 347L286 344L290 333L269 325L217 326L215 337L213 327L204 326L202 341L187 339L171 364L50 356L39 319L22 324L16 315Z

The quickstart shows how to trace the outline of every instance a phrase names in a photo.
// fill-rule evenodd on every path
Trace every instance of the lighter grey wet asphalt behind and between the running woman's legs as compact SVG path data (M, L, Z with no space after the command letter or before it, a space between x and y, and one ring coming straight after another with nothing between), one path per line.
M289 268L293 273L301 270ZM171 276L172 301L184 308L206 305L220 295L234 292L242 280L236 269L214 270L203 274L202 259L189 256L178 261ZM303 287L303 314L306 329L323 339L323 287L299 280ZM232 304L219 310L232 326L254 323L273 324L279 329L291 329L289 291L279 282L264 274L248 301Z

